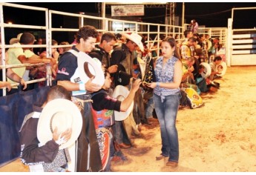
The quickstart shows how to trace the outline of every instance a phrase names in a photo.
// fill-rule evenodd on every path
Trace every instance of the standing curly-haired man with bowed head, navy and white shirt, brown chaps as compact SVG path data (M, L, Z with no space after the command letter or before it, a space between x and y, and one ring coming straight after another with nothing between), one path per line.
M76 34L76 45L71 50L63 53L59 60L56 76L57 85L62 85L72 91L73 102L81 105L84 112L82 132L78 139L78 153L76 171L102 171L99 154L99 145L96 141L96 132L91 115L91 94L101 89L101 85L92 82L82 82L82 74L79 72L79 52L90 53L95 47L98 32L95 27L85 25L79 28ZM91 57L90 57L91 58ZM89 101L88 101L89 100Z

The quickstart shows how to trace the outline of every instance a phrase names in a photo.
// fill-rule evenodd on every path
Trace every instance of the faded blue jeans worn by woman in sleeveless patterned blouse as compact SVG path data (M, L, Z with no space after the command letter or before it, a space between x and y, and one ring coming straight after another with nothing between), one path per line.
M162 139L162 155L168 156L168 161L179 161L179 140L176 128L177 111L180 105L180 92L174 95L165 96L161 102L160 96L154 94L154 108L160 122Z

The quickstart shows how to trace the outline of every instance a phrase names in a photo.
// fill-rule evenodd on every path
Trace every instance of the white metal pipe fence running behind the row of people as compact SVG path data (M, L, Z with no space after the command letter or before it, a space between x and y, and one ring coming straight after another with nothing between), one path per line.
M39 20L45 20L44 26L36 26L31 24L7 24L4 20L4 7L12 7L12 8L21 8L24 10L31 10L31 16L33 16L33 11L42 11L45 13L45 19L39 19ZM72 19L73 22L76 22L77 27L70 27L70 26L64 26L64 27L56 27L53 24L53 19L56 18L56 16L64 16L65 18ZM28 20L29 21L29 20ZM51 48L56 48L56 46L51 45L51 40L53 38L53 33L76 33L79 29L79 27L85 25L85 24L91 24L94 27L97 28L99 32L105 33L106 31L111 33L124 33L125 26L133 26L134 32L139 33L141 35L148 36L148 40L145 41L148 45L149 50L156 50L157 56L160 54L160 42L165 36L173 36L177 38L177 42L180 42L183 40L183 31L185 27L182 26L175 26L175 25L167 25L167 24L153 24L153 23L143 23L143 22L130 22L130 21L124 21L119 19L108 19L98 16L87 16L84 14L76 14L76 13L65 13L60 12L56 10L48 10L47 8L41 8L41 7L30 7L30 6L24 6L19 4L11 4L11 3L0 3L0 27L1 27L1 49L3 53L6 49L13 47L10 44L5 43L5 29L13 27L13 28L19 28L24 30L42 30L45 33L45 39L46 44L44 45L30 45L30 47L46 47L47 50L47 56L51 56ZM116 30L116 26L118 30ZM200 31L202 33L208 33L211 37L219 37L220 43L223 44L225 47L226 37L227 37L227 29L226 28L200 28ZM18 33L16 33L17 35ZM61 34L60 34L61 35ZM44 36L42 36L44 37ZM153 48L152 45L154 42L157 42L157 48ZM24 46L21 46L24 47ZM63 47L63 46L57 46L57 47ZM5 55L2 54L2 63L5 65ZM3 68L3 79L5 79L6 72ZM4 92L5 94L5 92Z

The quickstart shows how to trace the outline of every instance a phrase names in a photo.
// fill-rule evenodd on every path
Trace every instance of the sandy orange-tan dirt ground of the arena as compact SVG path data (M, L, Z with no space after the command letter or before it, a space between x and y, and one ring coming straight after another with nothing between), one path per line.
M142 125L134 147L123 150L127 160L112 162L115 172L254 172L256 171L256 67L228 67L218 79L220 90L203 96L205 106L179 110L177 131L180 161L177 168L156 161L160 154L157 122ZM28 171L17 159L0 172Z

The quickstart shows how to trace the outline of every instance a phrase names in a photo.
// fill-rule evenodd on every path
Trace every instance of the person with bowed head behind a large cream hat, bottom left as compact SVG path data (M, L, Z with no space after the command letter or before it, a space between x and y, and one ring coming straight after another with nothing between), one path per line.
M21 160L24 165L30 167L30 172L61 172L68 171L68 162L65 157L64 149L59 150L60 135L67 142L72 130L68 128L63 133L58 133L58 128L54 128L53 139L39 146L40 142L37 136L37 127L42 109L47 102L53 99L71 99L70 92L62 86L51 87L47 93L47 99L42 107L33 106L33 112L24 117L22 127L19 131L21 142ZM64 143L64 142L62 142Z

